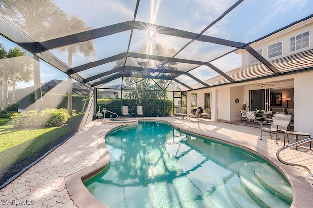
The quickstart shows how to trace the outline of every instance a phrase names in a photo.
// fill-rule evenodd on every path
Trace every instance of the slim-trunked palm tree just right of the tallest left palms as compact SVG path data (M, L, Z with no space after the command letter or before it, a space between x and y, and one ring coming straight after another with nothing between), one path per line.
M62 15L62 13L60 13ZM61 18L59 19L59 21ZM63 34L60 35L68 35L71 33L78 33L82 31L90 30L90 27L87 27L85 25L85 22L79 19L77 16L70 16L63 13L63 20L61 22L58 22L60 25L60 32ZM67 47L59 48L62 52L67 52L67 65L69 68L72 67L73 63L73 57L76 53L81 53L84 55L85 58L90 58L96 54L96 50L93 45L93 41L86 41L77 43L74 45L68 45ZM68 76L68 93L67 93L67 110L70 115L72 115L72 78L71 76Z

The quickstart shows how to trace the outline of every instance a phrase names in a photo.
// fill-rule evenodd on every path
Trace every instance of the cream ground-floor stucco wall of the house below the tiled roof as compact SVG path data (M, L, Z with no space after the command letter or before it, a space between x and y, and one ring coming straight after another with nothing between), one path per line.
M243 102L249 102L249 91L259 89L256 85L262 82L274 83L275 89L294 88L294 130L313 135L313 71L193 90L188 92L188 97L191 92L197 93L197 104L204 108L204 94L211 92L211 119L236 121L240 120ZM239 103L235 102L236 98ZM187 109L191 109L188 104Z

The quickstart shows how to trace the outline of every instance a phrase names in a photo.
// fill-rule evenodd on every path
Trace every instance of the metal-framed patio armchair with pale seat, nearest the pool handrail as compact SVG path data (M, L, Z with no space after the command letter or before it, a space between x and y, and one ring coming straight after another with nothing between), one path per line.
M270 124L270 128L263 127L261 124L261 140L262 140L262 131L269 132L270 139L272 139L272 133L276 134L276 144L278 144L278 133L286 133L289 128L289 123L291 120L291 115L286 114L275 114L275 117L273 117L273 122L268 123Z

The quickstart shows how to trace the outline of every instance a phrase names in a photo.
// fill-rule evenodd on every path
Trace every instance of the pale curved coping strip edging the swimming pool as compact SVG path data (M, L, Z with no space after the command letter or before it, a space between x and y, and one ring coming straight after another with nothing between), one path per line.
M178 126L172 121L166 120L157 120L157 119L145 119L144 121L158 121L158 122L165 122L172 125L175 128L180 130L200 135L202 137L210 137L220 142L228 143L234 146L242 147L248 151L252 151L253 153L257 154L258 156L262 157L263 159L270 162L274 165L281 173L286 177L289 181L292 191L293 191L293 201L291 204L291 208L296 207L310 207L313 204L313 197L312 197L312 187L308 184L308 182L300 176L291 166L282 164L276 157L273 157L267 151L257 148L255 146L250 146L241 141L235 141L234 139L221 137L215 138L214 136L204 135L199 132L193 132L192 129L186 129L184 126ZM97 142L98 142L98 150L100 154L100 159L93 165L77 171L71 175L65 177L65 186L67 188L67 192L73 202L78 207L89 207L89 208L108 208L105 204L100 202L96 197L94 197L89 190L83 184L83 181L90 178L93 175L96 175L103 169L105 169L109 162L110 162L110 154L105 145L104 136L111 132L112 130L119 128L125 124L121 124L119 126L113 127L112 129L107 129L106 131L101 132L98 135ZM236 142L236 143L235 143Z

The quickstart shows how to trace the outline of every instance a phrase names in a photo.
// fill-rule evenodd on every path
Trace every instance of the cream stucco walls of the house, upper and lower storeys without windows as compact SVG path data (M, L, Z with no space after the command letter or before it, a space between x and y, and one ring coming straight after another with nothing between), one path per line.
M310 34L309 46L299 50L289 50L290 38L308 32ZM268 46L277 42L283 42L283 54L268 59ZM272 60L295 55L313 49L313 19L310 18L295 24L285 30L279 31L271 36L262 39L259 42L254 42L250 45L254 50L262 48L262 56L271 62ZM238 50L237 54L241 54L242 68L251 65L260 64L260 62L250 63L250 54L246 50ZM298 62L301 68L303 62ZM308 64L307 62L305 64ZM310 62L311 64L311 62ZM291 66L292 67L292 66ZM308 66L307 66L308 67ZM278 68L279 70L279 68ZM308 70L308 68L307 68ZM248 73L248 72L247 72ZM289 102L294 109L294 130L307 132L313 135L313 70L298 71L294 74L283 73L280 76L248 81L243 83L233 83L210 87L206 89L193 90L188 92L197 93L197 105L204 108L204 94L211 92L211 119L236 121L240 120L240 109L243 109L243 103L249 104L249 92L251 90L260 89L257 86L260 83L271 83L273 86L264 86L262 89L271 88L282 93L281 108L287 108L287 101L284 98L292 98ZM239 102L236 103L235 100ZM190 109L188 103L187 109ZM249 106L247 106L249 109ZM251 110L251 109L250 109Z

